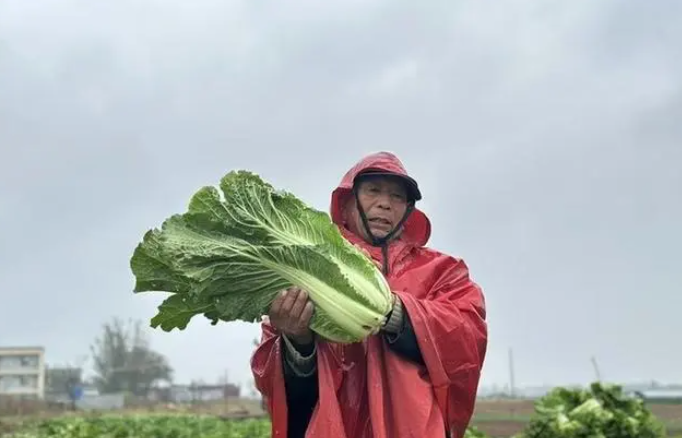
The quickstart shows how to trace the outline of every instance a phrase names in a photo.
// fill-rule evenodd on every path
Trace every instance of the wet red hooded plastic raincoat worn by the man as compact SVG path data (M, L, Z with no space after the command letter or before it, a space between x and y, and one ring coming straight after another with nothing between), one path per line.
M331 216L345 237L373 247L343 228L341 209L354 178L376 169L407 175L390 153L366 157L332 194ZM462 260L425 248L431 234L426 215L415 209L402 235L389 246L392 290L403 301L425 365L398 356L381 335L351 345L318 341L319 399L306 438L453 438L471 419L487 349L485 301ZM282 354L275 329L263 323L251 368L267 400L272 436L287 436L287 401Z

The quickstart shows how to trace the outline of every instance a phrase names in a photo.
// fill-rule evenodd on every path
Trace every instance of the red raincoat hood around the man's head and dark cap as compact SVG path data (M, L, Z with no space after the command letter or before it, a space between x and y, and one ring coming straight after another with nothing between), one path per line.
M403 177L413 190L421 197L417 182L410 177L400 159L390 152L371 154L356 163L341 179L341 183L332 192L331 217L337 226L343 227L342 212L346 201L353 196L353 185L358 176L368 172L388 173ZM431 237L431 221L418 208L414 208L403 224L401 239L415 246L425 246Z

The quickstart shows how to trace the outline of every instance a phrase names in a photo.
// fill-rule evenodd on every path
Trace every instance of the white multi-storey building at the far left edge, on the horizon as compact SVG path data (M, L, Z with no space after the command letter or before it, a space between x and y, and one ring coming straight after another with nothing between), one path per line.
M42 347L0 347L0 396L44 398L45 350Z

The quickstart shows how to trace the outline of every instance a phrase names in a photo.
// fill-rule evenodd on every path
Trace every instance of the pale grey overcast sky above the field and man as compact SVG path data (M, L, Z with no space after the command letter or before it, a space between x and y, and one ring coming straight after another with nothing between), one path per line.
M682 2L0 0L0 345L151 318L132 251L227 171L326 210L364 154L483 287L483 384L682 382ZM150 329L250 380L255 325Z

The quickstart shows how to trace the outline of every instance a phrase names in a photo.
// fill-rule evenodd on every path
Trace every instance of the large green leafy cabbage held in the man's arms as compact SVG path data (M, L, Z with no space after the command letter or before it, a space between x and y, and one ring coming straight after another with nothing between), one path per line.
M172 293L151 322L166 331L200 314L256 321L290 286L315 303L311 329L336 342L375 333L391 308L385 278L329 215L247 171L200 189L144 235L130 264L135 292Z

